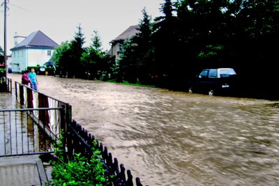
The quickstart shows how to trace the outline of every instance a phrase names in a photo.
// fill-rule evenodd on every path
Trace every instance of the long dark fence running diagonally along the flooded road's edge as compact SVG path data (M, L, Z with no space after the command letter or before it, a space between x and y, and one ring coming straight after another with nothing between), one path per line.
M114 175L113 180L111 180L114 185L133 185L133 176L131 171L125 170L123 164L118 163L117 158L112 158L112 153L108 153L107 147L103 146L102 143L97 142L96 145L93 144L95 137L87 132L80 124L76 121L72 121L72 111L71 106L68 103L61 102L50 96L44 95L38 91L35 91L28 86L24 86L15 82L15 95L17 101L22 104L23 107L27 108L62 108L61 114L57 114L55 109L45 112L42 114L40 109L33 111L33 116L36 116L40 121L45 121L45 127L49 129L49 132L58 137L63 130L63 146L69 156L73 153L82 153L85 157L91 158L93 155L93 148L97 148L101 151L102 160L107 169L107 175ZM32 118L33 119L33 118ZM98 141L98 140L96 140ZM110 176L108 176L110 177ZM135 183L137 186L142 186L140 178L135 178Z

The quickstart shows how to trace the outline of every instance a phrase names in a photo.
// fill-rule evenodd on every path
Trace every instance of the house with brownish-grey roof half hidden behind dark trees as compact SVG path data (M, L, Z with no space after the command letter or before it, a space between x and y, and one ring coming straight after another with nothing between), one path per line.
M123 41L128 38L133 38L137 33L140 33L140 26L139 25L133 25L129 26L128 29L123 31L119 36L117 36L114 40L110 42L110 45L112 46L109 52L107 54L110 54L111 56L115 56L115 59L119 59L119 54L121 52L121 45L123 45Z

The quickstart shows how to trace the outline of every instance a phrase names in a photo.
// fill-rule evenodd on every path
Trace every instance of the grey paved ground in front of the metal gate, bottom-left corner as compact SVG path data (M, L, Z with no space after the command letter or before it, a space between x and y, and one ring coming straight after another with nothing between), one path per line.
M0 157L1 186L38 186L47 183L39 155Z

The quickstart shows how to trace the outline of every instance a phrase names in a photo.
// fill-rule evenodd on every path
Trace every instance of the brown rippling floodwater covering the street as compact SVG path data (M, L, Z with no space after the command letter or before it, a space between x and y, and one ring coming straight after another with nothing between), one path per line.
M73 119L143 185L279 185L279 101L38 81L40 92L71 104Z

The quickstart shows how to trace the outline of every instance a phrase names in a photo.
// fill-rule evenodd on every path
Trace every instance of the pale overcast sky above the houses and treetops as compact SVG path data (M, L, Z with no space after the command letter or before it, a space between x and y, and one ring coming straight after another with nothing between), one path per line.
M0 4L4 0L0 0ZM139 24L142 10L146 8L152 18L160 13L163 0L6 0L7 55L14 47L17 36L29 36L42 31L58 45L73 40L80 25L84 33L84 47L90 45L93 31L98 31L103 49L110 49L109 42L129 26ZM4 8L0 7L0 46L4 48Z

